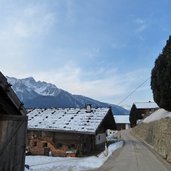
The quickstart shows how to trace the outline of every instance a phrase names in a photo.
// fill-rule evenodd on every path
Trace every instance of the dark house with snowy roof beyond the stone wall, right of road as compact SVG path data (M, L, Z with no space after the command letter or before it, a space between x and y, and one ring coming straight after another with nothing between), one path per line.
M159 109L158 105L154 102L136 102L132 105L130 111L131 127L137 125L137 122L146 118L151 113Z

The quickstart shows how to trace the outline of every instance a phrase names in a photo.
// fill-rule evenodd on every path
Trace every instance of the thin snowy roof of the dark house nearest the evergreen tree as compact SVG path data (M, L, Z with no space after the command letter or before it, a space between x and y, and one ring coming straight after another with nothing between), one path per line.
M137 109L156 109L159 108L154 102L136 102L134 103Z

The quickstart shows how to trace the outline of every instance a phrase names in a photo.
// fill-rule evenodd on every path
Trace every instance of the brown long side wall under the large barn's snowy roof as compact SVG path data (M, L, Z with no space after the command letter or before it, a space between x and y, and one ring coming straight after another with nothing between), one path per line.
M37 147L33 146L33 142L37 142ZM44 147L40 144L45 142L47 142L48 148L50 148L54 155L55 153L57 155L56 151L60 149L60 146L67 146L68 149L74 148L81 156L89 155L96 150L95 135L70 132L28 131L27 146L35 155L43 154Z

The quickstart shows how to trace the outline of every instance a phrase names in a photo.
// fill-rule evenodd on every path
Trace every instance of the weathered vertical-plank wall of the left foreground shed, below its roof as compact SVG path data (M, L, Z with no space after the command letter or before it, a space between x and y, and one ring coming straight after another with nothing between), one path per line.
M27 117L0 114L0 171L23 171Z

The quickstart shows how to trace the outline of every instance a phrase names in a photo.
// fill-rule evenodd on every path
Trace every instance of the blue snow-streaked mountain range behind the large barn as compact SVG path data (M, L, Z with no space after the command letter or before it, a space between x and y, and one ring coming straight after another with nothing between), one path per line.
M35 81L33 77L24 79L7 77L7 80L27 108L82 108L85 104L92 104L93 107L111 106L114 114L128 114L128 111L120 106L103 103L81 95L72 95L65 90L57 88L54 84Z

